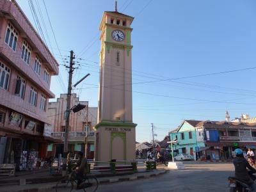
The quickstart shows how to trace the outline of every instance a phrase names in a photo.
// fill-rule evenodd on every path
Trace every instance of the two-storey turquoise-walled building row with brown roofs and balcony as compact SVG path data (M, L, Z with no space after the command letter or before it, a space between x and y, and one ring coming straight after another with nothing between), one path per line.
M246 148L256 148L256 124L184 120L178 129L170 132L171 140L175 137L180 153L196 151L198 157L230 159L237 147L244 152Z

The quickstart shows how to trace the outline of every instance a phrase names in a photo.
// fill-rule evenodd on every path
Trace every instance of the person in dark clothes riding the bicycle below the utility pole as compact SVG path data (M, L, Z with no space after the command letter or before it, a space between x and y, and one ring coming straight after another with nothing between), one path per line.
M78 162L77 162L77 189L83 189L83 186L81 186L81 182L83 181L84 175L87 173L88 168L88 162L86 157L84 157L83 152L78 152Z

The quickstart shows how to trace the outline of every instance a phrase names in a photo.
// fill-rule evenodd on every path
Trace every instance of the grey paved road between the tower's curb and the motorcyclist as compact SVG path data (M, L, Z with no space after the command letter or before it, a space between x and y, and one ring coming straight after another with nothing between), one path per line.
M186 170L172 170L150 179L101 184L97 192L228 191L231 163L185 163ZM78 192L78 191L77 191Z

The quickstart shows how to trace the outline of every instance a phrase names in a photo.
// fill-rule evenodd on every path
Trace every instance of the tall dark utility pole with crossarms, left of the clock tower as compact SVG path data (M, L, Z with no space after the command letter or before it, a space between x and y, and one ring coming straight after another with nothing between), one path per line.
M67 110L66 110L66 125L65 125L65 140L64 140L64 152L63 157L67 159L68 152L68 129L69 129L69 114L70 114L70 102L71 102L71 90L72 90L72 74L74 71L74 52L70 51L70 62L69 62L69 71L68 71L68 94L67 94ZM65 163L64 163L65 164Z

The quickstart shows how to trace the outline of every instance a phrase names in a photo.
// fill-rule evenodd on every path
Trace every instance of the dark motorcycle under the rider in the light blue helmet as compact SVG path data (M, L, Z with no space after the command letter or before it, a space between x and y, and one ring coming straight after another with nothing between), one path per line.
M252 180L256 179L255 175L253 175L253 173L250 171L249 175L252 178ZM228 177L228 180L230 192L252 192L248 184L244 183L242 180L239 180L236 177Z

